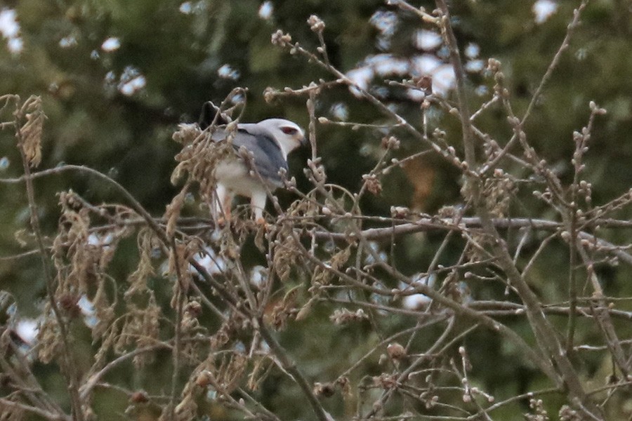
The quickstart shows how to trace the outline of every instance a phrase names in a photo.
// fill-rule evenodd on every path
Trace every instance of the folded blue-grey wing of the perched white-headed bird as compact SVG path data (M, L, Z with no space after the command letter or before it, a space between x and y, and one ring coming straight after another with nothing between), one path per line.
M225 138L225 131L219 130L213 133L215 141ZM261 177L270 181L272 185L281 187L283 182L279 176L279 170L283 168L288 171L287 161L272 135L258 128L256 124L239 124L235 138L232 140L232 147L239 153L239 148L242 146L254 154L254 163Z

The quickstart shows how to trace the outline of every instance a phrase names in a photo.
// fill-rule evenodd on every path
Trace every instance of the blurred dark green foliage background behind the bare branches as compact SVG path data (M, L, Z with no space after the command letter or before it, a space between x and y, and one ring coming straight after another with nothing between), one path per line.
M412 4L428 11L434 8L431 1ZM502 63L513 109L521 116L578 5L570 0L452 1L453 25L468 70L473 109L491 98L494 81L486 67L488 58L496 58ZM325 22L324 40L331 64L414 126L422 123L419 94L393 86L388 80L430 75L433 91L452 100L454 74L436 29L379 0L5 0L0 5L0 94L18 94L22 99L41 95L47 116L41 169L65 163L96 168L159 216L178 191L178 186L169 182L179 146L171 135L178 123L197 121L203 102L219 103L241 86L248 89L243 121L282 116L307 127L305 98L280 98L268 104L263 91L269 86L300 88L321 78L334 79L317 65L270 44L271 34L282 29L293 41L315 51L318 39L306 23L312 14ZM586 125L588 102L594 100L607 109L608 114L596 121L586 154L586 178L593 183L595 203L613 199L632 185L630 69L631 2L591 1L525 126L529 142L562 180L568 181L572 179L572 132ZM388 123L357 93L342 87L322 91L316 112L332 121ZM3 121L10 119L11 109L2 113ZM427 118L431 130L440 127L447 131L447 142L459 152L456 119L437 109L430 109ZM512 134L499 107L483 114L478 126L501 145ZM357 191L362 174L370 171L380 156L381 139L387 134L401 136L400 157L425 147L396 130L319 125L318 154L329 182ZM309 189L301 171L308 156L308 151L297 152L290 161L291 175L298 178L301 189ZM0 172L4 178L22 173L10 130L0 132ZM389 215L390 206L434 213L441 206L459 203L459 183L454 168L436 156L424 156L386 176L381 195L365 199L364 214ZM56 192L72 188L93 203L121 200L103 183L85 175L64 173L37 180L35 187L44 230L50 236L54 236L59 217ZM530 188L520 192L524 199L515 203L512 215L551 217L531 198ZM280 196L286 205L294 199L287 192ZM0 197L0 255L29 250L32 238L22 231L28 229L23 186L0 184ZM195 204L190 204L188 213L203 215ZM629 218L629 210L621 210L620 215ZM605 238L616 242L625 235L611 231ZM29 246L20 246L20 241ZM433 234L402 240L397 248L402 272L413 275L423 271L440 241L442 236ZM138 259L135 246L134 239L121 245L129 253L117 255L112 276L122 280L133 268ZM566 293L565 286L550 282L567 277L567 272L555 273L555 268L565 267L568 259L565 247L560 245L559 250L546 255L534 268L533 287L551 302L564 300ZM628 271L604 267L608 293L630 296L628 275ZM13 294L22 318L37 316L45 294L39 258L0 261L0 288ZM485 288L478 291L479 297L502 293L498 288ZM169 291L164 290L165 302L169 301ZM327 311L322 312L321 319L327 320ZM305 366L308 376L327 377L329 373L335 377L343 361L334 361L341 356L331 354L331 350L353 347L358 353L355 357L359 356L368 349L362 344L371 340L365 336L369 330L367 326L364 330L338 328L332 334L331 326L319 320L315 317L291 326L284 333L284 343L297 359L310 361ZM25 335L37 322L29 323L31 328L25 328ZM388 323L401 328L395 319ZM514 327L519 332L528 330L518 321ZM89 330L79 328L79 337L85 340L80 346L90 349ZM507 388L508 394L520 393L536 385L538 377L516 363L517 351L498 342L495 336L482 335L469 344L478 350L471 358L476 378L487 391L501 393ZM607 361L597 359L587 373L597 375L603 366ZM367 373L371 367L367 363ZM45 385L55 390L61 377L46 366L39 370ZM124 370L117 373L119 380L126 375ZM164 377L165 381L168 378ZM121 381L133 389L145 380L136 375ZM284 419L311 416L303 406L287 405L298 395L295 389L283 387L286 380L273 380L265 382L261 390L265 405L279 411ZM155 387L159 389L159 384ZM61 388L62 401L64 393ZM126 399L110 394L103 396L102 402L113 409L105 410L100 419L119 419L126 406ZM225 417L229 415L213 414L213 419Z

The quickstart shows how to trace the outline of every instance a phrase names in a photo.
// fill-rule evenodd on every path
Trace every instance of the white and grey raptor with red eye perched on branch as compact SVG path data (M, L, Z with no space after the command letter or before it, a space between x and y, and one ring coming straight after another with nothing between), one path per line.
M199 122L202 130L212 121L209 118L211 106L211 102L206 102L202 110ZM225 126L219 126L211 134L211 139L223 142L228 135L229 131ZM268 192L274 192L283 186L279 171L288 171L288 154L306 143L303 129L294 121L275 118L258 123L237 123L237 130L232 138L232 147L237 154L223 159L214 169L216 211L223 215L224 220L230 222L232 199L235 196L245 196L250 198L256 223L265 225L263 210ZM250 154L254 168L239 156L244 152L242 148Z

